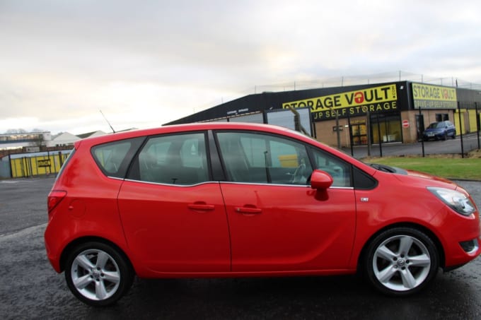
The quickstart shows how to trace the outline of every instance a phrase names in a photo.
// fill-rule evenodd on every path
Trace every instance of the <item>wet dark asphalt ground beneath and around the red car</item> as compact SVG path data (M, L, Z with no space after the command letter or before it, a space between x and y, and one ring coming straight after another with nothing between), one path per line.
M458 182L481 205L481 182ZM47 261L53 178L0 181L2 319L481 319L481 259L440 272L421 294L379 295L355 275L136 279L115 306L88 307Z

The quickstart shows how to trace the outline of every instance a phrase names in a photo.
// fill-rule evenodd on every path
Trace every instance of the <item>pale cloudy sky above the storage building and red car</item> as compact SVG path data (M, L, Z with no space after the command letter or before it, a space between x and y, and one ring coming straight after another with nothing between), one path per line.
M399 71L481 83L480 0L0 0L0 133L109 132L100 110L160 126Z

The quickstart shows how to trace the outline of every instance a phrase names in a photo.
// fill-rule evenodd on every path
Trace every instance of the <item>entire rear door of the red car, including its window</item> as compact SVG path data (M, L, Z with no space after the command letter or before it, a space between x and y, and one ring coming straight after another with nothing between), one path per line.
M219 182L211 182L204 132L149 138L118 203L129 247L166 273L230 271Z

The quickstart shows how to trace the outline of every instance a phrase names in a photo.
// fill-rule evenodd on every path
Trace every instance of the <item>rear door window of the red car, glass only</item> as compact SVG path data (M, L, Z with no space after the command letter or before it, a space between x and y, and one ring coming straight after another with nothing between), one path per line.
M137 178L145 182L188 185L209 181L202 133L149 138L135 165Z

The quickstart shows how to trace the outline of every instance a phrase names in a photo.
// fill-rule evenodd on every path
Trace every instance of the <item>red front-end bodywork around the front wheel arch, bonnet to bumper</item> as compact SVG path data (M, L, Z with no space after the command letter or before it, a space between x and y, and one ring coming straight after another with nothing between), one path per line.
M429 174L409 176L378 172L375 177L379 183L375 192L356 190L357 237L350 265L352 268L357 263L358 257L355 254L360 253L363 244L376 232L392 225L417 225L436 235L444 249L445 260L441 261L442 266L456 266L465 263L462 262L463 259L469 259L459 242L479 238L479 214L476 212L465 217L454 212L426 187L429 184L456 189L456 184L444 182L444 179ZM409 186L409 192L401 191L405 186ZM369 201L360 201L361 198ZM386 203L386 198L393 198L395 201ZM477 254L480 254L479 250ZM460 259L460 256L463 258Z

